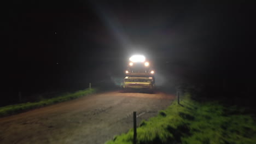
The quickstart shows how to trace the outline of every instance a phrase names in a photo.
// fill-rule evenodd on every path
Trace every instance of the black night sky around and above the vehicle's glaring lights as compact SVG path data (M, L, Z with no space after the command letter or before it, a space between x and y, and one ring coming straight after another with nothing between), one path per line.
M17 55L10 89L83 89L121 77L135 53L149 58L162 77L247 82L255 78L253 8L199 1L15 1L8 11L9 49Z

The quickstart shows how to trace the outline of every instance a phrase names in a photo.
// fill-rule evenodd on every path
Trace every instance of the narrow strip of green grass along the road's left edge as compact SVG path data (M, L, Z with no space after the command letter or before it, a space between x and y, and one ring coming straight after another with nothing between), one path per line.
M56 103L60 103L62 101L79 98L79 97L82 97L84 95L88 95L88 94L91 94L94 92L96 92L96 89L93 89L93 88L85 89L83 91L78 91L75 93L66 93L66 94L60 95L59 97L56 97L56 98L45 99L45 100L41 100L41 101L34 102L34 103L24 103L24 104L8 105L8 106L0 107L0 117L13 115L15 113L24 112L26 110L35 109L38 107L43 107L46 105L56 104Z

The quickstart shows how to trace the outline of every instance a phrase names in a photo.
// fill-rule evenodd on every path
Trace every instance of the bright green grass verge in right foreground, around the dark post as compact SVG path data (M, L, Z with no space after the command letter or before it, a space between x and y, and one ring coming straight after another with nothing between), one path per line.
M198 103L186 94L137 128L137 143L256 143L254 115L218 102ZM132 143L133 129L112 143Z

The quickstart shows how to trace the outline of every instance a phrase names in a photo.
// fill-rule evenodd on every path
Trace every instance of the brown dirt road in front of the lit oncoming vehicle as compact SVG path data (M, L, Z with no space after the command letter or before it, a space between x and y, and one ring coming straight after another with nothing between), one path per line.
M171 104L165 93L106 92L0 118L0 143L104 143Z

